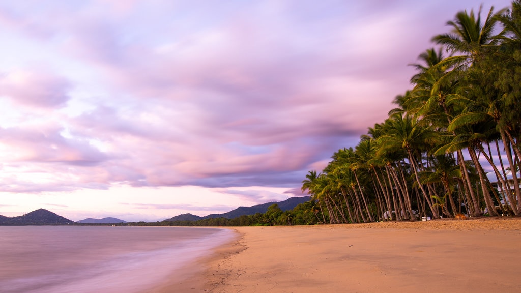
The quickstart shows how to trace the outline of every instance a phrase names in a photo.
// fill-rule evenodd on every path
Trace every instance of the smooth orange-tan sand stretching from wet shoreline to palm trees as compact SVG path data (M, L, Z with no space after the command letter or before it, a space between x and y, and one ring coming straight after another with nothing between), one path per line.
M233 229L190 291L521 292L521 218Z

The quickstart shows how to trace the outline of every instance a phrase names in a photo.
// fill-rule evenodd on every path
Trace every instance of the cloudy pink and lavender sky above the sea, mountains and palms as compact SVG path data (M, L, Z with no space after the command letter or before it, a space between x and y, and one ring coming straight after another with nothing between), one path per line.
M155 222L305 196L479 4L0 0L0 214Z

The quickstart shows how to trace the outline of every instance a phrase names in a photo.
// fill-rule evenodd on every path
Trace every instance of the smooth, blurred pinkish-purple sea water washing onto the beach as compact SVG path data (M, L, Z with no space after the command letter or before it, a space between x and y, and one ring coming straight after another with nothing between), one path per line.
M143 292L229 241L217 228L0 226L0 292Z

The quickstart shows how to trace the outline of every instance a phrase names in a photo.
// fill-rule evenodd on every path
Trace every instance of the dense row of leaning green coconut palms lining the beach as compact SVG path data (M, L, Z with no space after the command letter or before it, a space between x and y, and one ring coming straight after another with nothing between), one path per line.
M461 11L448 25L389 117L302 181L322 222L521 212L518 176L507 179L521 157L521 0L484 19L481 8Z

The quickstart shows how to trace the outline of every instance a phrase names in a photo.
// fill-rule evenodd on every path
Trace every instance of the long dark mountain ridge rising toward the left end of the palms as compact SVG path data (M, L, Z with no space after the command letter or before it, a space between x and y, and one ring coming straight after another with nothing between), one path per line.
M192 215L192 214L182 214L182 215L178 215L175 217L171 217L164 221L197 221L200 219L220 218L220 217L232 219L232 218L236 218L236 217L239 217L242 215L253 215L256 213L266 213L266 211L268 210L268 206L275 204L275 203L280 207L280 209L282 211L292 210L295 206L297 206L301 203L304 203L306 201L309 201L309 200L311 200L310 197L300 197L300 198L293 197L293 198L289 198L285 201L280 201L280 202L272 201L272 202L267 202L267 203L263 203L263 204L253 205L250 207L239 206L237 209L224 213L224 214L210 214L210 215L207 215L204 217L200 217L200 216L196 216L196 215Z

